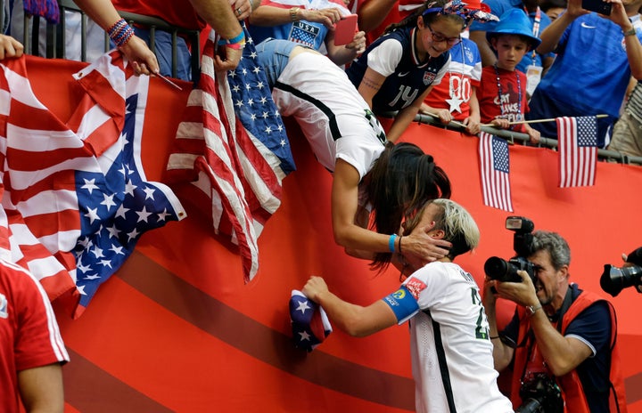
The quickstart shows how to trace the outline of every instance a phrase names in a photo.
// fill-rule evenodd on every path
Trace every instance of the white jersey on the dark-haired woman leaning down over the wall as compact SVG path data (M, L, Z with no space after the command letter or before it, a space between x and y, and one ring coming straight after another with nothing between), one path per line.
M383 127L345 72L325 56L293 57L272 97L282 116L296 119L318 161L330 171L341 158L363 178L383 152Z

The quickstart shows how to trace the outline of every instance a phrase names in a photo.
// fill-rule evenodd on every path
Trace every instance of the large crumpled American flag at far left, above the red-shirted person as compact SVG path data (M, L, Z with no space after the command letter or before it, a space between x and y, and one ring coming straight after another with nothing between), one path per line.
M149 78L132 76L119 53L103 55L75 75L85 94L65 124L31 92L24 59L5 62L0 246L51 300L77 296L78 317L144 231L185 216L140 167Z

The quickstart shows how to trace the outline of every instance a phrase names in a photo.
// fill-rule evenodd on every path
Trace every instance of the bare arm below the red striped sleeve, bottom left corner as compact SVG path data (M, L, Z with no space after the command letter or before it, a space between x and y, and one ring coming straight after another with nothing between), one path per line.
M27 413L62 413L62 368L58 363L18 372L18 386Z

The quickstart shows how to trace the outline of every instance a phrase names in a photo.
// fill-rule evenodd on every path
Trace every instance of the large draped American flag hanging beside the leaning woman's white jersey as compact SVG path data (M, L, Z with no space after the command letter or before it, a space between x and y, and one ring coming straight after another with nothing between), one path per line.
M168 171L172 182L191 182L205 195L214 230L238 244L249 281L259 269L260 231L281 205L281 182L294 162L247 30L245 36L243 59L225 76L214 70L210 33Z

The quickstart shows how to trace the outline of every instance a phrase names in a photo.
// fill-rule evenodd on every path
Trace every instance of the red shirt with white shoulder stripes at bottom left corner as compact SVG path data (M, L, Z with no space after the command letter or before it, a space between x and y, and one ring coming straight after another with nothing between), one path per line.
M45 290L0 260L0 411L18 412L18 371L69 361Z

